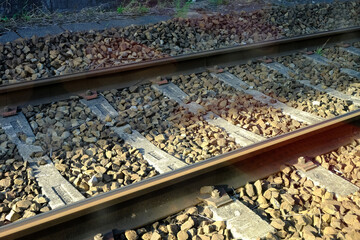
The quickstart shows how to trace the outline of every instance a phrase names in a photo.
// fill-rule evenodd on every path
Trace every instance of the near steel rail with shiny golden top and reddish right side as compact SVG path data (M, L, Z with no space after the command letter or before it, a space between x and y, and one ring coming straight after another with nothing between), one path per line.
M201 186L240 187L279 171L299 156L315 157L360 134L360 110L241 148L0 228L0 239L90 239L132 229L198 202Z

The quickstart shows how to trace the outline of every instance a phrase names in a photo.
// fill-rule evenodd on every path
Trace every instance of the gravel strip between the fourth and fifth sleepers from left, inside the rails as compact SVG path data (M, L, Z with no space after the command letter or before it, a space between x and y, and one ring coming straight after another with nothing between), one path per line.
M332 118L356 109L350 101L343 101L288 79L260 63L245 64L229 69L243 81L280 102L299 110Z

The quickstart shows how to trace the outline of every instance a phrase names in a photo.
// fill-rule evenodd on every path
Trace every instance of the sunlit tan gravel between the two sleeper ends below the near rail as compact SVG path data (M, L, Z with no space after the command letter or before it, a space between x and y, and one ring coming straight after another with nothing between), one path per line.
M360 238L360 192L337 198L286 166L236 192L276 229L266 239Z

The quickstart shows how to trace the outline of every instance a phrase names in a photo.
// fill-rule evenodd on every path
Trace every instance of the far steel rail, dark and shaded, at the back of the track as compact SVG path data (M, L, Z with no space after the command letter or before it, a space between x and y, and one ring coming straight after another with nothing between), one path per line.
M0 107L47 103L68 98L87 89L118 89L157 76L198 72L214 65L232 66L263 56L285 55L304 48L315 49L325 42L327 46L330 46L340 41L358 41L359 39L360 27L352 27L1 85Z

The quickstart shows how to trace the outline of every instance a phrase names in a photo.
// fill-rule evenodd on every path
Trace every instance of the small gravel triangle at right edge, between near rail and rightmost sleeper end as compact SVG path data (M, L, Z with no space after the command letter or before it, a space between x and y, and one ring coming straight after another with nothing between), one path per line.
M360 139L336 151L319 155L315 160L324 168L360 187Z

